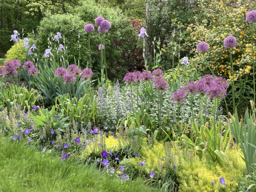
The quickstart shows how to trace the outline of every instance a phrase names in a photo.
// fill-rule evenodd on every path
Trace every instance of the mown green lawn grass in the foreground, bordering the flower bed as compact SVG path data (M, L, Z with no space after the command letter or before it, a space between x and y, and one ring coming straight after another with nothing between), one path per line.
M76 163L60 162L51 153L39 153L22 142L0 138L0 191L153 192L141 178L122 181L117 176Z

